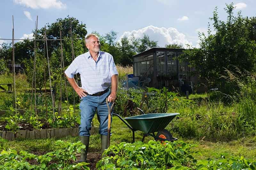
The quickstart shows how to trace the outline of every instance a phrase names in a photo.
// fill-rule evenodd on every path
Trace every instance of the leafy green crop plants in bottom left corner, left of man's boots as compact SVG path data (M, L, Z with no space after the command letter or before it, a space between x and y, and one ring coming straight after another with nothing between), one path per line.
M18 154L15 150L0 153L1 169L88 169L89 163L75 163L76 154L85 146L79 141L69 143L58 140L56 150L37 156L25 151Z

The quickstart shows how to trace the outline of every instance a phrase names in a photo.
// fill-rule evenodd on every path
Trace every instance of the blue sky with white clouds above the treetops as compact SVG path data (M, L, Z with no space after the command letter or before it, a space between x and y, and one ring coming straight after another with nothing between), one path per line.
M209 18L214 8L218 8L220 20L226 20L224 8L232 2L235 13L256 16L255 0L1 0L0 38L12 38L12 15L15 39L32 38L36 16L40 29L69 15L86 24L88 33L116 31L117 41L147 34L160 47L173 43L198 47L198 31L206 33L208 22L212 25ZM3 42L11 41L0 40Z

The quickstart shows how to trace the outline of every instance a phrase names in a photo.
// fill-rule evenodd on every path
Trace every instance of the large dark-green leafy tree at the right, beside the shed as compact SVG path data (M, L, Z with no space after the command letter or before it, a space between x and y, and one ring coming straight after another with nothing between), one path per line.
M216 33L212 34L209 25L207 36L199 33L200 48L186 50L183 55L183 59L196 67L201 80L220 88L225 87L225 80L220 76L226 74L226 69L233 71L236 66L251 72L255 71L256 65L255 18L243 18L241 11L235 16L233 3L224 9L228 14L227 21L219 20L216 7L210 18Z

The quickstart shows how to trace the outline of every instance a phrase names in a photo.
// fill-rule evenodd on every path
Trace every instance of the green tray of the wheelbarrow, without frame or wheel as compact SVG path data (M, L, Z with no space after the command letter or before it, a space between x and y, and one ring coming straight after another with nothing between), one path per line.
M124 118L134 129L146 134L163 130L179 113L149 113Z

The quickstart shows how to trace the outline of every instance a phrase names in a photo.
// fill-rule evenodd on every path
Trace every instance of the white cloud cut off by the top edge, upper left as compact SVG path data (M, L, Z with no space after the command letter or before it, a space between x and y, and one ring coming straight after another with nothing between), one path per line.
M14 3L24 5L32 9L65 9L67 7L67 5L60 2L60 0L14 0Z

